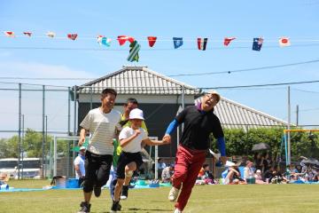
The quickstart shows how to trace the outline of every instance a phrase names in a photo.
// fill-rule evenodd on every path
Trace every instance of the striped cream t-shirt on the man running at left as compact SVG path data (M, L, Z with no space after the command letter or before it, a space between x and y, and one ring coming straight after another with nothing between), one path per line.
M103 113L100 108L89 111L80 126L89 130L89 146L87 150L93 154L112 154L114 151L113 138L115 130L121 130L121 113L112 109Z

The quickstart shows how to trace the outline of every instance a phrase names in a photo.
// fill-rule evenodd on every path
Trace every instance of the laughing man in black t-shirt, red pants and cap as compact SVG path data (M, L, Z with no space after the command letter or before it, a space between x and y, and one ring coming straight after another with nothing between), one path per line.
M168 125L163 137L170 141L172 132L178 125L184 123L182 138L179 141L175 158L173 187L168 194L169 201L175 201L178 197L175 202L175 213L183 211L191 196L191 189L196 182L198 172L206 160L211 133L214 138L217 138L218 148L222 155L221 161L223 163L227 161L222 125L214 114L214 106L220 99L221 96L216 91L207 92L197 105L187 106L180 114L177 114L173 122Z

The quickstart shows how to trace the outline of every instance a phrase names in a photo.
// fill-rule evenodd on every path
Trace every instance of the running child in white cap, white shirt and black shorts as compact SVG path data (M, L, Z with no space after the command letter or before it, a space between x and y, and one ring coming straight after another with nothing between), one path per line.
M132 109L129 113L130 127L125 127L121 130L119 140L122 152L117 165L117 183L115 185L113 203L111 212L117 212L120 203L120 193L122 186L129 185L133 172L143 164L141 155L142 143L149 146L159 146L167 144L163 140L151 140L148 138L146 131L141 127L144 121L144 114L141 109ZM124 192L124 190L123 190ZM126 194L122 192L121 199L128 198L128 191Z

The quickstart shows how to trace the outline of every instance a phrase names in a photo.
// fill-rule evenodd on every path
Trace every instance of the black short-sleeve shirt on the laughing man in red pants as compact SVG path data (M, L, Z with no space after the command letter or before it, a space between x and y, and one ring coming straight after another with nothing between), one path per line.
M175 117L178 123L184 123L182 146L191 149L206 150L210 146L209 135L214 138L223 137L222 125L213 110L204 112L197 106L187 106Z

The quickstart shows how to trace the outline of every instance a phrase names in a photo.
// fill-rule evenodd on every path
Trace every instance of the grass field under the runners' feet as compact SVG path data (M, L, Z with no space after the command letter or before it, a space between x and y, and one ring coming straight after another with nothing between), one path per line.
M44 180L9 182L15 188L41 188ZM134 189L127 201L121 201L121 212L173 212L174 203L167 201L170 188ZM0 212L76 212L82 201L80 190L0 193ZM111 207L108 190L92 198L92 213L106 213ZM318 213L319 185L196 185L184 209L187 212L221 213Z

